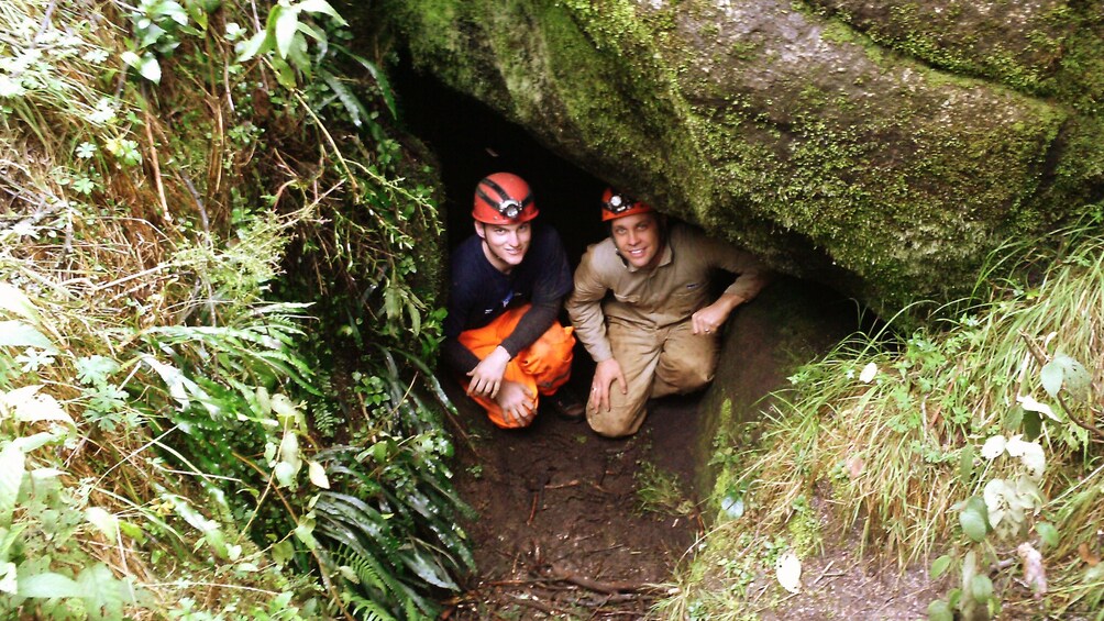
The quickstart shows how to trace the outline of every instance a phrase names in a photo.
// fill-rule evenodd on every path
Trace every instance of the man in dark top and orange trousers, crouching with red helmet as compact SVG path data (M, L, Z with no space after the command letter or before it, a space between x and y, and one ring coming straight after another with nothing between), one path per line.
M564 418L583 416L581 403L558 392L571 377L575 344L556 319L571 269L555 229L533 221L538 213L520 176L484 178L471 210L476 234L452 257L444 358L503 428L529 426L540 395Z

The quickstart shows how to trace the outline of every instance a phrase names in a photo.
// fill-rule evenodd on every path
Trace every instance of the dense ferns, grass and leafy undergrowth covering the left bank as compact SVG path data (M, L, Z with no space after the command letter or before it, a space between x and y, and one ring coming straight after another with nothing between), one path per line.
M433 179L343 26L0 6L0 615L424 618L470 569Z

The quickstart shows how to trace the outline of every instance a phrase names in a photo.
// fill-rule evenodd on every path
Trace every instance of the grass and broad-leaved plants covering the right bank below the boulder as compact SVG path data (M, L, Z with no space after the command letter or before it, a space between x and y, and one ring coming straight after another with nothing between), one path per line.
M661 609L755 618L786 595L749 597L779 554L831 540L924 568L933 620L1104 618L1104 228L1085 211L1002 249L944 325L891 323L800 367L757 448L719 438L718 524Z

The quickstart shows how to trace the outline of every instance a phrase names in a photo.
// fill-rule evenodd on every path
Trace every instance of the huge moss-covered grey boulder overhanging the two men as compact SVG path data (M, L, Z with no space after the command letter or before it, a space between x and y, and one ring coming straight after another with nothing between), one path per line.
M892 313L1104 192L1096 3L383 0L414 66Z

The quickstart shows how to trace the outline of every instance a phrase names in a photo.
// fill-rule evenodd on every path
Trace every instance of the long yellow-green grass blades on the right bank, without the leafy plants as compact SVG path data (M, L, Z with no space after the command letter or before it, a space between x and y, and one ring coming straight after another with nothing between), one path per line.
M1086 213L1083 223L995 254L979 298L942 309L937 325L895 334L891 323L799 368L764 413L761 447L722 477L735 482L718 490L722 497L747 490L747 514L722 518L690 574L731 583L723 571L702 568L723 565L749 536L758 537L752 549L762 557L771 534L787 532L802 497L822 501L831 516L822 527L853 537L868 555L895 558L902 569L928 560L966 540L960 503L1002 473L980 457L984 442L1023 435L1038 436L1047 457L1040 484L1047 502L1026 526L1048 522L1060 533L1058 545L1043 548L1051 571L1047 606L1083 612L1097 604L1104 571L1084 559L1085 546L1098 549L1104 518L1104 435L1092 429L1104 415L1104 228L1093 215L1098 208ZM1055 399L1042 385L1043 364L1061 354L1091 373L1081 399ZM1053 417L1025 408L1025 397L1050 406ZM1021 533L1031 538L1032 532ZM1038 535L1033 543L1042 546ZM1013 548L998 544L994 553L1008 558ZM767 569L757 566L763 575ZM1000 585L1011 606L1031 596L1015 582ZM749 610L739 598L718 603L715 593L686 588L668 602L671 609L701 609L709 600L711 613Z

